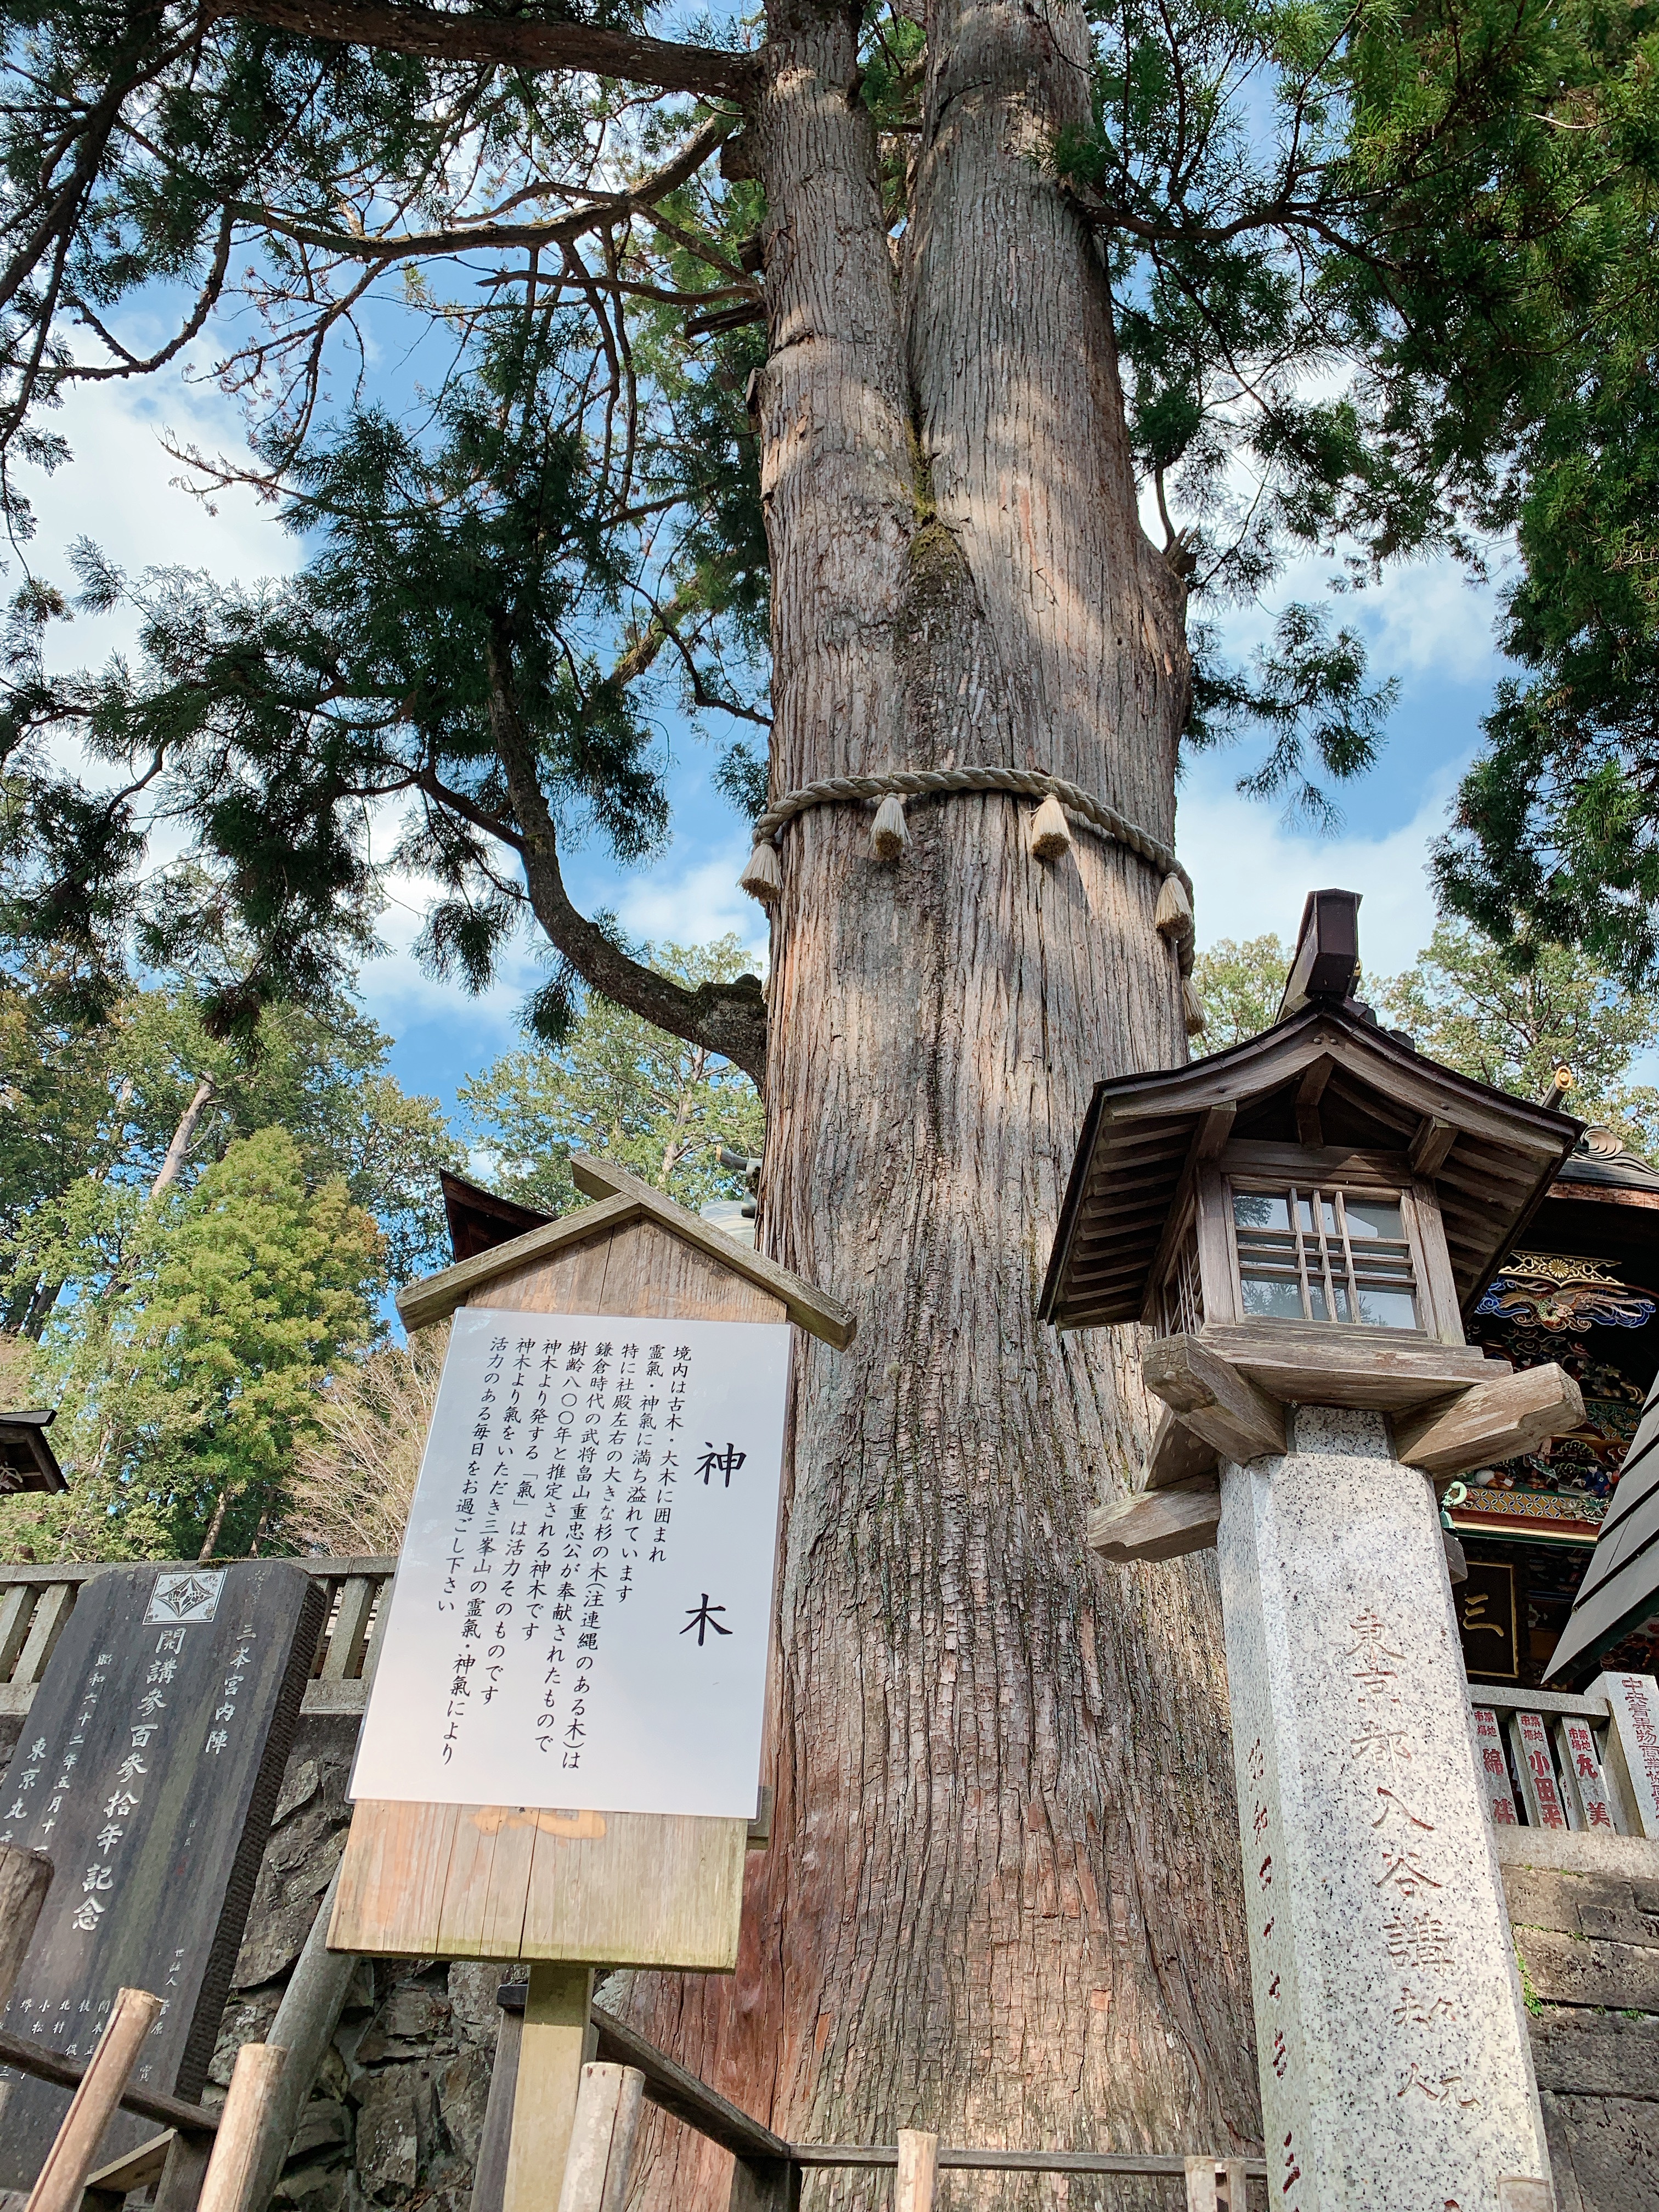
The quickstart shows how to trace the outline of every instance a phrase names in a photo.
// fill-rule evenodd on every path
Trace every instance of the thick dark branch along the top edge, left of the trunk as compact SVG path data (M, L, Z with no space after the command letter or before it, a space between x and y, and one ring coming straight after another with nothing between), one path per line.
M743 100L757 82L752 53L681 46L586 22L524 22L456 9L398 7L389 0L206 0L204 22L265 22L299 38L418 53L434 62L502 62L509 69L586 69L666 93Z

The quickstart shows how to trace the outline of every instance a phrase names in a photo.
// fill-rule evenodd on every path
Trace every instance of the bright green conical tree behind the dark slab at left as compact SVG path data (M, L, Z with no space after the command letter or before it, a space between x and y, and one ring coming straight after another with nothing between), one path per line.
M146 1203L122 1279L51 1323L35 1360L64 1498L0 1504L0 1542L58 1557L246 1555L283 1544L319 1389L374 1336L385 1245L343 1181L307 1188L279 1128Z

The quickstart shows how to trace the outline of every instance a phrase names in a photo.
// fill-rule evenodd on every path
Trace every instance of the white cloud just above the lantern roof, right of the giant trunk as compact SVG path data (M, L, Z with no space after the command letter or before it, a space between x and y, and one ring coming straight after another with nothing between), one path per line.
M1460 763L1425 785L1418 812L1385 836L1347 827L1336 836L1287 827L1237 792L1183 794L1177 847L1197 889L1199 945L1217 938L1296 938L1303 898L1338 885L1363 896L1360 953L1371 975L1398 973L1436 925L1429 838L1447 821Z

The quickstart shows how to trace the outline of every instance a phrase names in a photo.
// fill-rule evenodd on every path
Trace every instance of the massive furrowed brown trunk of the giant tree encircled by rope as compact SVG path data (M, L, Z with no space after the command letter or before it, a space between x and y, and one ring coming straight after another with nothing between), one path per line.
M931 0L927 33L900 268L854 18L774 15L765 49L772 792L995 761L1172 843L1181 591L1042 168L1088 119L1086 24ZM1029 812L911 801L896 865L858 807L785 836L761 1225L858 1338L801 1347L739 1973L626 2002L796 2141L1221 2154L1259 2104L1214 1568L1091 1562L1146 1440L1133 1345L1035 1321L1088 1091L1186 1055L1179 973L1157 876L1086 830L1033 860ZM637 2201L717 2205L726 2174L655 2124Z

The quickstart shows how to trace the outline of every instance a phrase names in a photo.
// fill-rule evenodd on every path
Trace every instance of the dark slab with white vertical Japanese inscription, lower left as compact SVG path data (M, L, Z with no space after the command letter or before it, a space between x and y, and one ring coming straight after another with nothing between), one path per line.
M288 1559L84 1586L0 1778L0 1840L55 1867L9 2035L84 2062L117 1989L150 1989L133 2081L199 2095L321 1628ZM69 2090L0 2068L0 2188L29 2188ZM117 2117L102 2157L153 2132Z

